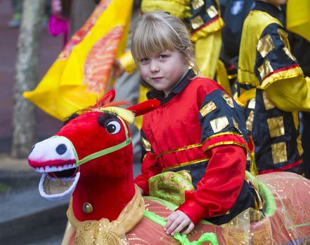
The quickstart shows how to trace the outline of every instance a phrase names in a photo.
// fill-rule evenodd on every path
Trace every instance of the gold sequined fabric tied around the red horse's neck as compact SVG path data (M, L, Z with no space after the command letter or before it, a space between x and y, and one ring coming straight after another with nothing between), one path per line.
M74 244L100 244L100 245L119 245L123 244L126 232L139 223L144 212L144 200L139 188L135 186L135 196L124 207L119 218L110 222L107 218L100 221L76 220L72 210L72 202L69 204L67 216L69 222L76 230Z

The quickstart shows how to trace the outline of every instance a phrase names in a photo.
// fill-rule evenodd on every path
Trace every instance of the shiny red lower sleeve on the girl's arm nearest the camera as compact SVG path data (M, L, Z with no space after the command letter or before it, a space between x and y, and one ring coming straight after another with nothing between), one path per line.
M196 225L202 218L226 214L234 205L245 178L246 152L241 146L217 146L206 151L207 169L195 191L185 193L178 209Z

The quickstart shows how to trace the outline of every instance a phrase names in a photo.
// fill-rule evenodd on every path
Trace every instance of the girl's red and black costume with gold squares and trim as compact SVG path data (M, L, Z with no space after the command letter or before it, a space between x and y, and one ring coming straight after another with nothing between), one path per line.
M147 94L161 106L144 115L142 174L135 183L148 195L151 176L187 169L196 190L186 192L178 209L195 224L201 218L227 223L256 205L255 191L245 181L245 118L220 85L194 76L189 70L166 98L157 90Z

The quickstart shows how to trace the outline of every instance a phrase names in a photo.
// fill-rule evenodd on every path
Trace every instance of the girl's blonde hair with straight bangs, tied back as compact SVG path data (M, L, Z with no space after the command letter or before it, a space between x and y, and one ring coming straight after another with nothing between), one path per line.
M146 13L133 30L131 53L135 63L166 50L180 52L184 61L198 73L193 45L184 23L167 12Z

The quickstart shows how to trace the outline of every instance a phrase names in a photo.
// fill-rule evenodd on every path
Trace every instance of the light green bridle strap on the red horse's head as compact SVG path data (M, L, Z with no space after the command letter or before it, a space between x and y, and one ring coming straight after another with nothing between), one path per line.
M109 153L113 153L114 151L118 151L119 149L125 147L125 146L128 146L131 142L131 137L128 137L128 130L127 130L127 127L126 127L126 123L123 121L122 118L118 117L119 120L121 120L121 123L123 124L123 127L125 129L125 134L126 134L126 140L121 142L120 144L117 144L116 146L111 146L109 148L106 148L106 149L103 149L102 151L97 151L95 153L92 153L88 156L86 156L85 158L79 160L79 156L77 155L76 153L76 150L74 148L74 144L72 144L72 142L67 138L67 137L63 137L63 136L53 136L51 138L55 138L55 137L62 137L62 138L65 138L67 141L70 142L70 144L72 145L72 148L73 148L73 151L74 151L74 155L75 155L75 159L76 159L76 167L80 166L80 165L83 165L84 163L90 161L90 160L93 160L95 158L100 158L102 157L103 155L107 155Z

